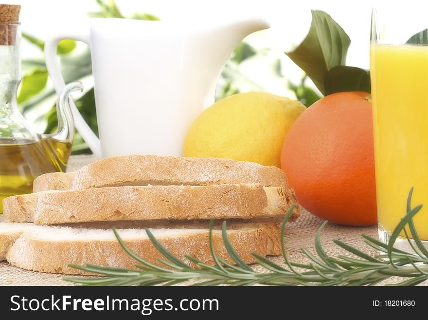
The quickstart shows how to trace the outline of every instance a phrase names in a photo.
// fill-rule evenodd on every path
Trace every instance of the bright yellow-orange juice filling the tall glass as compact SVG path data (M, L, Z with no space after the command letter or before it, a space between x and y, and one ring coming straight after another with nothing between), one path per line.
M412 207L428 240L428 46L372 44L370 48L377 217L392 232Z

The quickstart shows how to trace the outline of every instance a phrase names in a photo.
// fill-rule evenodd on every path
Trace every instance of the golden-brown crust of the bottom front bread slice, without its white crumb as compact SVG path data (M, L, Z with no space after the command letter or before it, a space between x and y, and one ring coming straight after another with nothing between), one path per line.
M121 230L118 232L120 235ZM280 224L277 222L235 224L232 229L228 228L228 237L246 263L255 261L252 252L262 256L281 253ZM213 264L207 229L177 237L159 237L157 240L179 258L189 255L203 263ZM125 240L125 244L143 259L160 264L157 259L161 255L150 240ZM220 230L213 231L213 245L218 256L232 263L223 245ZM135 269L136 264L115 239L52 241L34 237L32 230L24 231L16 240L7 253L7 261L27 270L71 275L90 273L73 269L68 264L97 264L129 269Z

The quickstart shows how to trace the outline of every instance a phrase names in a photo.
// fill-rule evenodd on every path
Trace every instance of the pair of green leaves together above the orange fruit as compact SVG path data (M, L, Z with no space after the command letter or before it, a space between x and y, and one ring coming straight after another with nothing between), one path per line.
M351 40L328 14L312 11L312 23L303 42L285 53L312 79L322 94L341 91L370 93L370 75L366 70L345 67Z

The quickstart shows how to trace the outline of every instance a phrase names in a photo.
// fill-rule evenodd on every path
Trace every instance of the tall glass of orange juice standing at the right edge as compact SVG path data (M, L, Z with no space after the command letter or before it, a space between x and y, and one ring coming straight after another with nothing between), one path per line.
M407 196L413 187L412 207L423 205L413 222L428 244L427 9L422 1L414 6L388 1L375 6L372 14L377 217L379 239L384 243L406 215ZM395 246L410 250L404 234Z

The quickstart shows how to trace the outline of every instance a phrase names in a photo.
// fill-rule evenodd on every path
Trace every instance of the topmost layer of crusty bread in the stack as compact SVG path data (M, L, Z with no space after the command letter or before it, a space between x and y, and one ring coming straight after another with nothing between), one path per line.
M77 172L47 173L36 178L33 192L119 186L258 183L287 188L285 173L277 167L217 158L125 155L95 161Z

